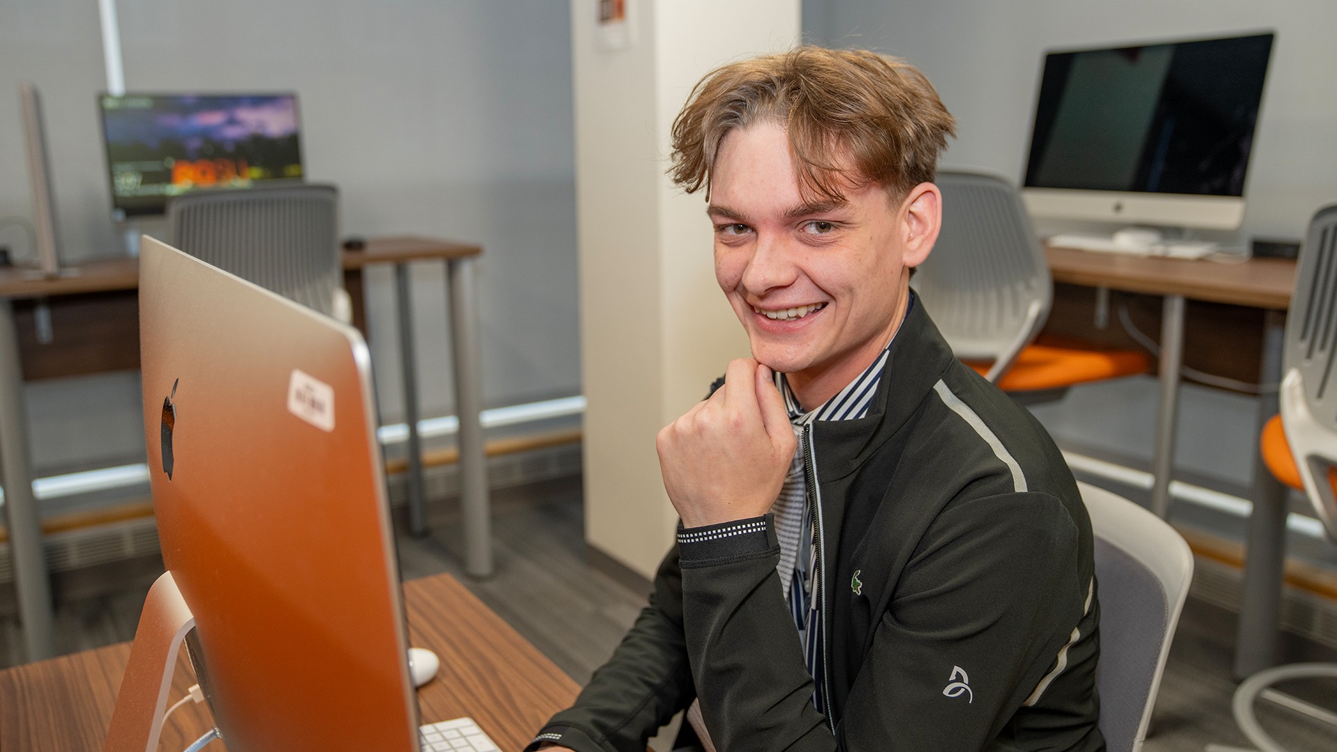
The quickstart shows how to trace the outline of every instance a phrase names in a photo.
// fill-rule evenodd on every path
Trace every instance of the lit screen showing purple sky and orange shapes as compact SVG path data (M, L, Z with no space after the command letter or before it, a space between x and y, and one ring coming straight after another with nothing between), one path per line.
M302 179L294 94L102 95L114 215L163 214L194 189Z

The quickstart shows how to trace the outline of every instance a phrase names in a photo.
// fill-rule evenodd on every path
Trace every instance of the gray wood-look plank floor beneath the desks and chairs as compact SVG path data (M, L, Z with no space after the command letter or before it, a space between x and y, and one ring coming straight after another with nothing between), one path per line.
M578 682L608 656L644 601L646 583L618 571L582 537L579 479L495 495L497 574L471 581L460 573L457 529L447 511L440 534L400 537L405 578L451 571ZM66 605L57 613L62 650L95 648L134 636L147 585L116 595ZM1230 717L1235 682L1230 676L1234 614L1189 599L1161 686L1147 752L1202 752L1209 743L1245 747ZM0 662L20 654L13 620L0 621ZM1288 660L1337 660L1332 650L1298 638L1286 642ZM1337 689L1294 688L1337 709ZM1290 711L1263 708L1265 727L1297 752L1337 749L1337 732Z

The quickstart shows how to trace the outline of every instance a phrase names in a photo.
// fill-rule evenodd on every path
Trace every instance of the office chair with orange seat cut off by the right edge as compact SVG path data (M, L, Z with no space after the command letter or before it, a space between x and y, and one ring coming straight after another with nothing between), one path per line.
M1281 415L1259 439L1267 470L1305 492L1328 535L1337 541L1337 205L1320 209L1296 269L1286 316ZM1233 712L1239 729L1262 752L1284 752L1258 725L1254 702L1278 697L1271 685L1302 677L1337 678L1337 664L1292 664L1263 669L1239 685ZM1321 717L1318 713L1316 717ZM1330 713L1329 713L1330 717Z

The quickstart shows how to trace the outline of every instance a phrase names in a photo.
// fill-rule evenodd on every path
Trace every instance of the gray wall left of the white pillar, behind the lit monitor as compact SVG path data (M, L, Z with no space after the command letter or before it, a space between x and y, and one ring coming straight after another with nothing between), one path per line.
M342 191L344 234L479 242L487 405L580 392L567 3L120 0L131 91L298 92L308 177ZM17 90L43 95L62 256L122 253L95 94L96 3L0 5L0 244L31 256ZM160 225L146 223L146 230ZM401 412L389 270L368 274L381 409ZM424 415L453 411L440 265L413 268ZM56 333L59 336L59 332ZM140 454L138 380L28 389L39 471ZM130 430L126 421L131 420ZM80 426L83 434L71 435Z

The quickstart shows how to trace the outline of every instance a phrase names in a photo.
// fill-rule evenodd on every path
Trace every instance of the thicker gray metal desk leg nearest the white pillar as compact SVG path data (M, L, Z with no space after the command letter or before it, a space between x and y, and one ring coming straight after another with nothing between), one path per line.
M451 351L455 412L460 416L460 494L464 508L464 567L473 577L492 574L492 511L483 454L483 360L473 260L447 262L451 288Z

